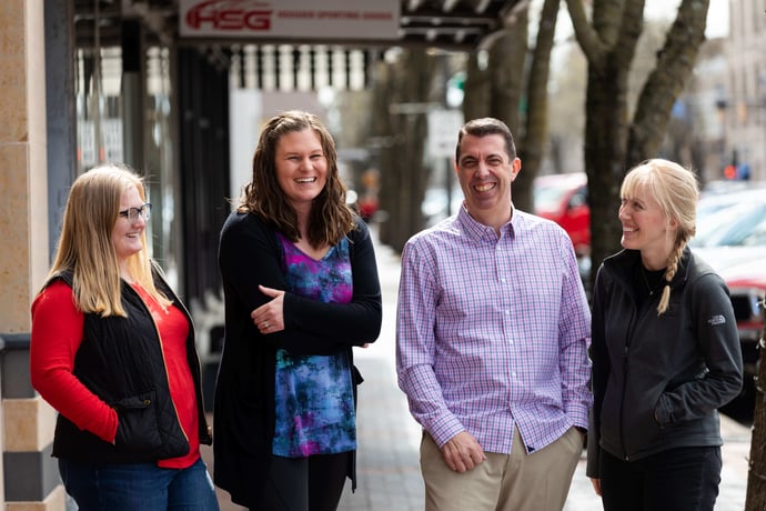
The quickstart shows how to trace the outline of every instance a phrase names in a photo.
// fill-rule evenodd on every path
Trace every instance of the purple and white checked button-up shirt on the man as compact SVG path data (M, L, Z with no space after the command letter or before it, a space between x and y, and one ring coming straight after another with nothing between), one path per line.
M462 431L510 453L587 428L591 312L572 242L514 210L497 237L461 208L402 253L396 372L415 420L442 447Z

